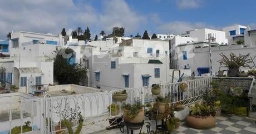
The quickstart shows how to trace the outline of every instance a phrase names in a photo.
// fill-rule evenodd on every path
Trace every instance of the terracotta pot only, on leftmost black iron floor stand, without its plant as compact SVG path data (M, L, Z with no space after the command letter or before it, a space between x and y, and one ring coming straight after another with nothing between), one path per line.
M125 122L130 122L130 123L141 123L144 121L144 109L141 108L141 110L139 110L139 113L137 116L135 116L134 118L130 118L129 116L127 116L127 114L129 113L129 110L125 110L124 109L124 120Z

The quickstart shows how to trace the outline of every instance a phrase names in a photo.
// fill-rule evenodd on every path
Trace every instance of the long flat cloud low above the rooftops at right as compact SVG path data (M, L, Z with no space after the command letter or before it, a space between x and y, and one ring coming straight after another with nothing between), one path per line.
M184 21L174 21L169 23L163 23L157 29L163 33L174 33L181 34L182 32L189 31L191 29L200 29L200 28L211 28L218 29L210 24L203 22L189 23Z

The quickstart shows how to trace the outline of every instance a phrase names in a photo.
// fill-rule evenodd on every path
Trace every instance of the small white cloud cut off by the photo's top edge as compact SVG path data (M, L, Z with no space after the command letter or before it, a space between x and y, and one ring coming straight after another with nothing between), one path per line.
M202 0L176 0L176 4L181 9L198 8L201 6Z

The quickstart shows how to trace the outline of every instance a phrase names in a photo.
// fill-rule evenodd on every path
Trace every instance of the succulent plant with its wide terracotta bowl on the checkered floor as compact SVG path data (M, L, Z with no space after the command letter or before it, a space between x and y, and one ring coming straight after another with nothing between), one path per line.
M215 126L215 111L205 102L195 103L194 106L189 106L190 112L186 116L186 122L190 127L196 129L209 129Z

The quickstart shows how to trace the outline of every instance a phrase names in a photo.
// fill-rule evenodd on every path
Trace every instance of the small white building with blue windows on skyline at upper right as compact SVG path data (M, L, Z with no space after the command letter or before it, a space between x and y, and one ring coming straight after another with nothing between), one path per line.
M243 40L244 41L244 33L246 30L246 26L242 25L234 25L229 27L224 27L222 30L225 32L225 35L228 39L228 44L237 44L237 41Z

